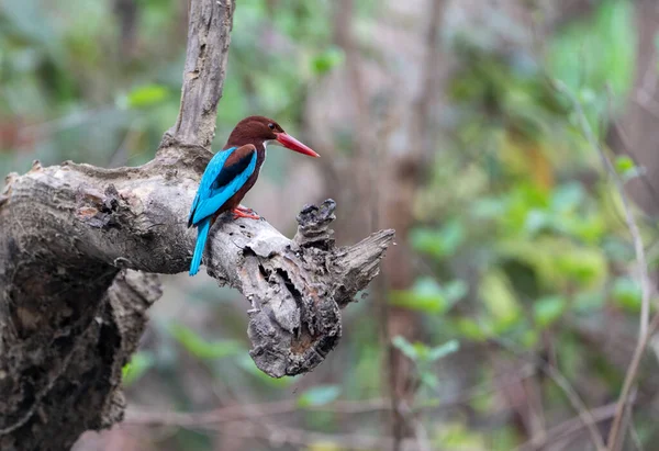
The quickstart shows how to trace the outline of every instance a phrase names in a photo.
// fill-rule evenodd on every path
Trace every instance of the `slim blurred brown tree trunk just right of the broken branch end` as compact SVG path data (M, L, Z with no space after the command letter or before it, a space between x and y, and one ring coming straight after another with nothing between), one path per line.
M446 0L431 0L427 21L424 23L423 59L421 61L420 89L413 99L410 123L407 124L407 146L405 153L387 153L383 155L384 180L382 185L382 224L390 224L398 233L398 246L383 262L384 281L388 293L392 290L410 290L416 278L414 253L410 244L410 230L414 225L414 204L418 188L424 183L432 168L433 157L439 150L437 135L433 124L433 108L443 91L447 67L442 65L442 45L439 27L446 7ZM382 302L388 302L388 293ZM402 336L413 341L422 331L420 313L410 308L392 306L387 317L388 337ZM394 439L400 443L403 437L412 436L414 418L410 418L410 409L414 404L417 388L414 363L400 350L389 343L390 384L393 407Z

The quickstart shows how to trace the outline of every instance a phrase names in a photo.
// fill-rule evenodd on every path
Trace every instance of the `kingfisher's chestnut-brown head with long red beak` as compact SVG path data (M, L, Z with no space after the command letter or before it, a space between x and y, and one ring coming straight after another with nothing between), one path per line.
M306 145L289 135L277 122L264 116L249 116L238 122L231 133L227 146L243 146L245 144L271 143L286 147L287 149L320 157Z

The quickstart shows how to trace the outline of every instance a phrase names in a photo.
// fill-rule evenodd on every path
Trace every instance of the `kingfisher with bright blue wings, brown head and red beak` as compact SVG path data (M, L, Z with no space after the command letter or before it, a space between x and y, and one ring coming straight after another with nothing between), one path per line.
M249 116L238 122L228 135L224 148L213 156L203 171L192 201L188 227L197 227L197 245L190 275L199 271L209 230L217 216L231 212L234 219L260 219L253 210L242 206L241 201L258 179L268 144L280 145L310 157L320 157L271 119Z

